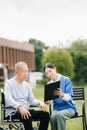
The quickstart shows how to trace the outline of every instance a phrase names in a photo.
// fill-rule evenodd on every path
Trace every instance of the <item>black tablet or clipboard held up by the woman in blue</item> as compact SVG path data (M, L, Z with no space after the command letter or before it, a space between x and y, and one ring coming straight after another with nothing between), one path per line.
M60 87L60 81L46 84L44 86L44 101L53 100L59 96L54 95L54 91Z

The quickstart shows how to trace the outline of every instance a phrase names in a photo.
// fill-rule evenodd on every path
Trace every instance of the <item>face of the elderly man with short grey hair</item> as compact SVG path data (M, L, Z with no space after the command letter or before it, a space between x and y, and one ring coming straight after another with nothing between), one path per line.
M26 65L21 65L20 69L16 71L17 78L24 81L28 78L28 67Z

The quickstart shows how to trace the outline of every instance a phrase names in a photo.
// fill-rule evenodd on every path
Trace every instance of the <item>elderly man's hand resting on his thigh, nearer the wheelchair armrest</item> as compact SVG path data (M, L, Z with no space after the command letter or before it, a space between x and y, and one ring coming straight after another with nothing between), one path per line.
M21 113L22 119L27 119L31 116L30 112L27 109L25 109L23 106L19 106L18 110Z

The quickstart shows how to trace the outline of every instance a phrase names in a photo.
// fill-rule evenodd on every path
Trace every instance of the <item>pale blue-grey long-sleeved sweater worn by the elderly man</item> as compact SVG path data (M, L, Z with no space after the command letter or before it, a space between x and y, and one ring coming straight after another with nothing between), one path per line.
M15 78L8 80L5 84L4 93L6 106L12 106L18 109L22 105L26 109L29 109L29 104L34 106L40 105L40 101L34 97L31 86L26 81L18 83ZM14 109L6 110L5 115L8 116L13 111Z

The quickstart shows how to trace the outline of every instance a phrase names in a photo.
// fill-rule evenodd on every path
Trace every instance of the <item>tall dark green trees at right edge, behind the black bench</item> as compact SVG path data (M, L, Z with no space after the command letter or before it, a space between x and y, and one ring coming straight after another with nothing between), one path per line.
M69 48L75 64L75 82L87 82L87 41L77 40Z

